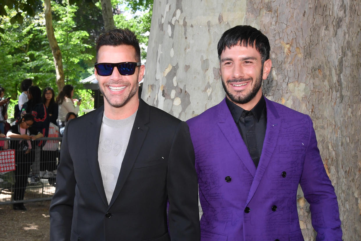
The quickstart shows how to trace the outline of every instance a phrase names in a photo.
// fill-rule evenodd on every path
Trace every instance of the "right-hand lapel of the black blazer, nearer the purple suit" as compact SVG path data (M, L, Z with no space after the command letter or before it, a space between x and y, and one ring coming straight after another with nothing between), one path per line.
M149 106L142 99L139 100L139 108L135 116L134 125L130 133L129 143L123 158L122 166L119 172L117 184L114 189L112 200L110 200L109 207L117 199L121 192L125 181L133 168L133 164L138 157L139 151L142 148L145 136L148 132L147 124L149 122Z

